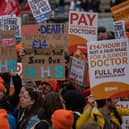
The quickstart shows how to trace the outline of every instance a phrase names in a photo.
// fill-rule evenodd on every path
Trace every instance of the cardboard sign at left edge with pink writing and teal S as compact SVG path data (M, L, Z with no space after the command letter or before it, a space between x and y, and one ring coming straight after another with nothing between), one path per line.
M16 71L15 31L0 31L0 73Z

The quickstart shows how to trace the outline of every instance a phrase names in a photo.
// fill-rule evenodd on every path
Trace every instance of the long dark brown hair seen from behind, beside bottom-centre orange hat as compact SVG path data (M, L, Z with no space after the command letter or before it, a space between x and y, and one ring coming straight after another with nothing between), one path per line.
M52 91L45 95L42 107L44 112L43 117L45 118L45 120L51 123L51 115L53 114L53 112L57 109L63 109L63 104L61 102L59 94Z

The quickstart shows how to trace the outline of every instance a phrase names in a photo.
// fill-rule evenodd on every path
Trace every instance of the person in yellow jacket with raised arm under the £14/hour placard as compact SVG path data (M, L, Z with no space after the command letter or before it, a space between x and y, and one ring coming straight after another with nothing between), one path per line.
M114 100L96 100L97 107L93 106L92 101L92 104L84 109L83 114L78 119L76 128L80 129L89 120L96 121L102 129L121 128L121 116L129 115L129 109L116 107L116 100Z

